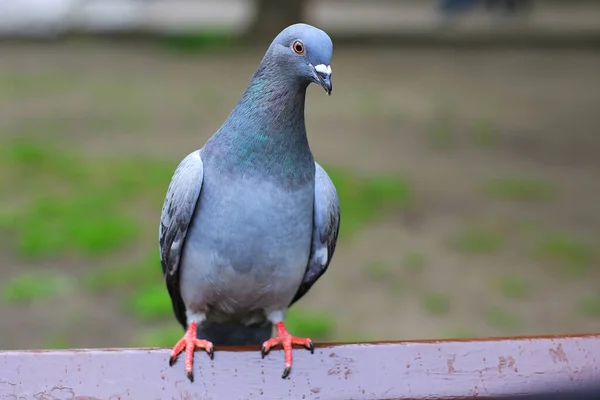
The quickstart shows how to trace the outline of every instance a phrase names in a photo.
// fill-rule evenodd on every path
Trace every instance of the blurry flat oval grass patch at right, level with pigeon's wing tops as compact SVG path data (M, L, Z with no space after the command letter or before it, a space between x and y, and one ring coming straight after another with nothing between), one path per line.
M484 185L483 190L489 197L519 202L552 200L558 191L552 182L519 176L492 179Z

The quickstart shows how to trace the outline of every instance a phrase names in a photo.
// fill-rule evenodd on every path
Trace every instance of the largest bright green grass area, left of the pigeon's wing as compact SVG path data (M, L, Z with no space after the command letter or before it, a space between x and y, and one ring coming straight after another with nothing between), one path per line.
M0 213L19 256L105 255L141 235L127 208L150 199L159 209L175 166L129 159L86 160L31 139L2 146L18 206ZM157 217L158 218L158 217Z

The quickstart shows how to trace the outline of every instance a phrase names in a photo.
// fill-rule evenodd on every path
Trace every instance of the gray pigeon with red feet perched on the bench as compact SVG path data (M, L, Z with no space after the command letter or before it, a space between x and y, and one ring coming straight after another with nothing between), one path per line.
M331 94L333 44L320 29L295 24L269 46L246 91L204 147L179 164L162 208L159 246L173 310L186 329L193 381L196 348L276 345L292 367L288 308L325 273L340 206L333 182L311 153L304 123L311 82ZM277 335L271 338L275 325Z

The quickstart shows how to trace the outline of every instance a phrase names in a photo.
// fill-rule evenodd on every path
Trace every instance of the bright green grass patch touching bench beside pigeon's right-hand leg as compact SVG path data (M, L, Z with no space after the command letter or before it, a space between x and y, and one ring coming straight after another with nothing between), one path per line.
M294 336L326 341L333 337L335 318L329 313L292 307L285 317L285 325Z

